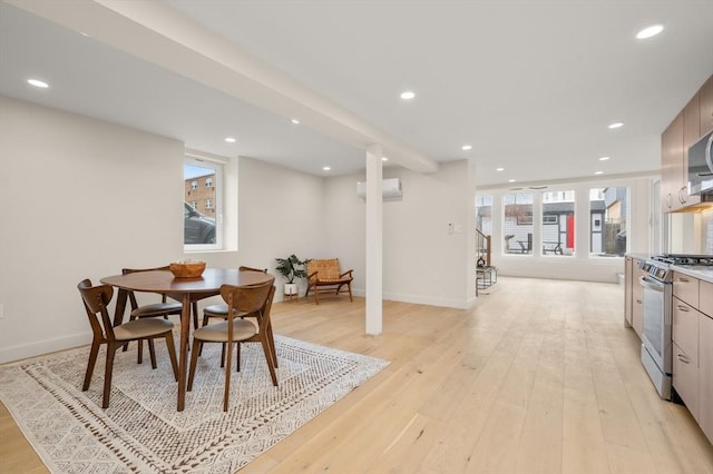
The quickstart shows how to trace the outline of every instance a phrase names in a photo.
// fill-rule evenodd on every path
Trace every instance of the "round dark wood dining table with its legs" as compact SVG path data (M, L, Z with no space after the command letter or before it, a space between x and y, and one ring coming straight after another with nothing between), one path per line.
M114 316L115 325L121 324L124 319L128 292L156 293L182 303L177 411L183 412L186 404L188 337L193 304L201 299L219 295L221 286L223 285L258 285L272 279L274 279L274 276L263 271L241 271L237 268L206 268L203 275L196 278L177 278L168 270L152 270L113 275L101 278L100 282L119 290Z

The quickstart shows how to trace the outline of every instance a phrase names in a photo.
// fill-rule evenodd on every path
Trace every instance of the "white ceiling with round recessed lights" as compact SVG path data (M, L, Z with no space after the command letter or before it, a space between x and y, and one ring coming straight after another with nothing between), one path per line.
M360 144L370 137L402 144L406 158L394 156L404 166L409 157L427 167L472 158L480 186L656 171L661 132L713 73L711 0L154 2L284 75L293 86L279 90L285 105L267 111L262 99L231 92L229 73L222 83L219 71L201 79L169 65L158 55L166 36L110 40L113 23L69 18L75 4L13 3L0 4L1 95L315 175L323 166L330 175L363 169ZM131 2L79 3L116 17ZM141 24L153 33L162 27L154 18ZM82 31L97 27L90 38L77 32L81 21ZM663 33L634 38L652 23ZM196 51L213 56L196 48L185 56ZM51 87L29 87L30 76ZM406 89L416 99L402 101ZM290 90L314 92L313 105L323 98L322 115L338 112L332 126L311 120L314 107L287 103ZM300 126L289 120L295 110L305 115ZM364 124L350 125L367 130L363 138L332 132L346 119ZM614 121L625 125L608 130Z

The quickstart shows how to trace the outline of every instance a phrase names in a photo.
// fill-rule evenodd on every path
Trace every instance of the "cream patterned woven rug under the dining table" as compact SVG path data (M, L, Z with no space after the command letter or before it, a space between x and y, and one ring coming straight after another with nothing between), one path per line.
M117 352L101 408L104 350L81 392L89 347L0 366L0 399L55 473L233 473L384 368L385 361L275 335L280 386L260 344L244 344L223 412L221 345L204 347L184 412L163 343L158 368ZM145 349L146 350L146 349Z

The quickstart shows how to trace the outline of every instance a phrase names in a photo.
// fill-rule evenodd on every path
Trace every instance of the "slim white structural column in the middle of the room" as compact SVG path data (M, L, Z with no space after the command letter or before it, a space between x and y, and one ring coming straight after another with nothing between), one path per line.
M381 145L367 148L367 334L382 328L382 164Z

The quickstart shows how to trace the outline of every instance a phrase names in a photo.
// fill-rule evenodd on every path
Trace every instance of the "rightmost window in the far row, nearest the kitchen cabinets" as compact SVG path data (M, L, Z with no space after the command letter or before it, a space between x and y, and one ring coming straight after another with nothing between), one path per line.
M623 257L627 246L628 188L590 189L589 214L589 253Z

